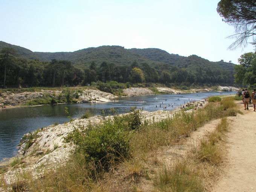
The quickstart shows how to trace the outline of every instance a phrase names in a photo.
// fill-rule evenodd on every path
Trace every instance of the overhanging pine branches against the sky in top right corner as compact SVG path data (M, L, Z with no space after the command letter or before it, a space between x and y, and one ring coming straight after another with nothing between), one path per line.
M221 0L218 3L217 12L223 21L235 27L236 41L230 45L230 49L238 46L244 47L248 43L248 38L253 37L256 30L256 0Z

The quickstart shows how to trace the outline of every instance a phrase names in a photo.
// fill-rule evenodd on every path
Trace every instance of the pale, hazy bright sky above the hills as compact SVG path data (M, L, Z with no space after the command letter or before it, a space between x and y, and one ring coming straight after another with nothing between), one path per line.
M119 45L238 63L219 0L0 0L0 41L37 52Z

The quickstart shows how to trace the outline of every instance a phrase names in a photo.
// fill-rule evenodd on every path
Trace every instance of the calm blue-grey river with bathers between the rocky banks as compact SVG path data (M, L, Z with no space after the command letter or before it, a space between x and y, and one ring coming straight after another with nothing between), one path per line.
M160 94L136 98L119 98L118 102L44 105L0 110L0 160L4 157L13 157L17 154L17 145L24 134L34 131L37 128L52 125L55 122L64 123L68 121L69 119L65 113L65 107L69 108L69 113L73 118L81 117L87 110L93 115L101 115L102 110L104 110L107 115L110 112L110 108L115 108L119 114L125 113L133 106L137 108L143 107L143 109L147 111L155 111L163 110L163 105L168 106L168 104L172 104L173 107L167 107L167 110L173 110L179 107L180 104L189 101L189 99L200 100L213 95L234 93L235 92ZM136 102L136 99L139 100L139 102ZM143 102L140 102L140 100ZM156 105L157 107L155 107Z

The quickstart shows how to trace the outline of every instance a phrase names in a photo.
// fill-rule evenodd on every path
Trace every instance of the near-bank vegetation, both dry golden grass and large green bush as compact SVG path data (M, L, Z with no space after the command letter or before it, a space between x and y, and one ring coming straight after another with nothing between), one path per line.
M228 126L225 117L239 113L233 100L222 98L193 113L180 111L159 121L143 121L140 112L132 109L99 124L75 127L66 137L66 142L76 146L68 162L43 166L38 177L30 172L15 175L11 188L2 175L1 187L6 191L141 191L140 181L148 180L155 191L203 191L214 178L210 172L224 158L220 143ZM152 160L160 148L181 144L216 118L223 119L187 158L177 158L171 166Z

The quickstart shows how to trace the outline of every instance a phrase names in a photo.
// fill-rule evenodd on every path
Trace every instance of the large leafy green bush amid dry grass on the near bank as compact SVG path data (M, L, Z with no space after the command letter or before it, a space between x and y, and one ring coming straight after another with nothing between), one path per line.
M77 152L84 155L88 161L100 163L104 167L111 160L126 157L129 153L129 140L134 129L140 125L139 112L115 116L103 124L89 125L80 131L75 129L66 137L67 142L77 146Z

